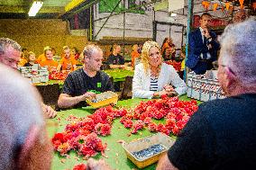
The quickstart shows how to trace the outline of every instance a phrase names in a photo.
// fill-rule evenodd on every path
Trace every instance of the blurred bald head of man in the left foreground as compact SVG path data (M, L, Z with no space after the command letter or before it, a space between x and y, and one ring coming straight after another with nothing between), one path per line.
M0 169L50 169L53 150L40 94L18 72L2 64L0 91Z

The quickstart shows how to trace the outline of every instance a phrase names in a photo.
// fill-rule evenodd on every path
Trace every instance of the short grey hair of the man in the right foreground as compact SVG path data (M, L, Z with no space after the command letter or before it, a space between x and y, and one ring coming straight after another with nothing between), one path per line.
M220 38L222 63L244 84L256 83L256 21L229 24Z

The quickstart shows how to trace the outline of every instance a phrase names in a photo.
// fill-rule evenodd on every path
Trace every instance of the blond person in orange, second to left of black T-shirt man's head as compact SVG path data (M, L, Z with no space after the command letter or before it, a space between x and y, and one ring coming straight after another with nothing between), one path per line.
M41 67L48 67L49 72L57 70L58 62L53 60L52 49L46 49L44 51L44 56L46 60L41 62Z

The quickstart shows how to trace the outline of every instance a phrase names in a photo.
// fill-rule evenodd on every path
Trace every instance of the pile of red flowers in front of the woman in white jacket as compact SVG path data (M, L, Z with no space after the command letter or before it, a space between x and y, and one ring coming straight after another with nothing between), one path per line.
M150 131L160 131L167 135L172 132L177 135L184 128L190 116L197 111L197 102L179 101L178 97L162 96L159 100L140 103L132 113L122 117L125 128L131 128L131 133L148 128ZM165 124L157 124L152 119L166 119ZM133 120L136 120L133 122Z

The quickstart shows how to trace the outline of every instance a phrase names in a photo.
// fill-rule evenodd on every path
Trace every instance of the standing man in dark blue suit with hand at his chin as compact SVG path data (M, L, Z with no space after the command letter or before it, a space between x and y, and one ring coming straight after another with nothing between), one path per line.
M209 30L211 19L209 13L203 13L200 17L200 27L188 35L189 53L186 65L197 75L212 69L212 62L217 60L219 43L216 42L215 32Z

